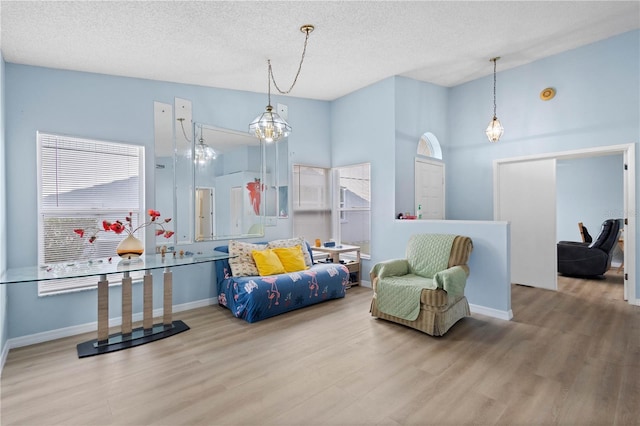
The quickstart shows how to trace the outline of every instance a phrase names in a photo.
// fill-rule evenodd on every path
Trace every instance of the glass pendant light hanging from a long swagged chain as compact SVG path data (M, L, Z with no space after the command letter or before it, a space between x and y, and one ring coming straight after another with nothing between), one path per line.
M282 117L278 115L277 112L273 111L273 107L271 106L271 82L273 81L273 85L283 95L288 94L293 89L293 86L296 85L298 81L298 76L300 75L300 70L302 69L302 63L304 62L304 55L307 51L307 41L309 40L309 34L313 32L315 27L313 25L303 25L300 27L300 31L305 33L304 38L304 48L302 50L302 57L300 58L300 65L298 65L298 72L296 73L295 78L293 79L293 83L288 90L280 90L276 80L273 76L273 69L271 68L271 60L267 60L267 88L268 88L268 98L267 98L267 107L265 108L265 112L260 114L249 124L249 133L254 134L261 141L276 142L282 138L286 138L291 133L291 126L286 122Z

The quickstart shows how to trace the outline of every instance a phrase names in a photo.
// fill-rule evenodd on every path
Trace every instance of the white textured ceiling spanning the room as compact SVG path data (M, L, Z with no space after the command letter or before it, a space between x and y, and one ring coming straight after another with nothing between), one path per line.
M393 75L455 86L640 28L639 1L0 1L5 61L333 100Z

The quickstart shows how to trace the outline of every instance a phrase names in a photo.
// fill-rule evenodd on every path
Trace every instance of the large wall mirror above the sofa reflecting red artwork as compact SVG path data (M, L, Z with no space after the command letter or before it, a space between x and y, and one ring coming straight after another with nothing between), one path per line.
M198 122L193 135L194 241L262 237L271 219L287 216L286 141Z

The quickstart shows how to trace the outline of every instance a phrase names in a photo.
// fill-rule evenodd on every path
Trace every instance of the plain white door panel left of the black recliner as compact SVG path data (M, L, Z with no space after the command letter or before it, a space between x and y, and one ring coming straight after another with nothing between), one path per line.
M511 282L558 288L556 160L497 163L496 220L511 223Z

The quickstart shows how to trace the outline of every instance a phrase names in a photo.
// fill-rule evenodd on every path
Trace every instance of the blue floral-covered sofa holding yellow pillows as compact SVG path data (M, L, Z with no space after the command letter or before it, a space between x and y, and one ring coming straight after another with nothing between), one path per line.
M311 253L307 243L307 248ZM229 252L229 246L214 250ZM299 272L234 277L227 259L216 261L218 303L237 318L256 322L326 300L342 298L349 270L337 263L314 263Z

